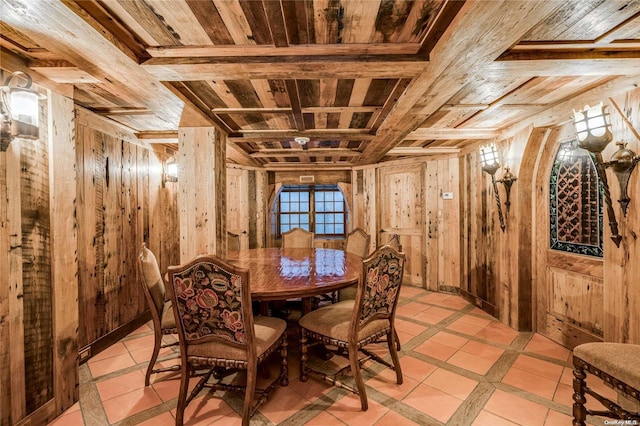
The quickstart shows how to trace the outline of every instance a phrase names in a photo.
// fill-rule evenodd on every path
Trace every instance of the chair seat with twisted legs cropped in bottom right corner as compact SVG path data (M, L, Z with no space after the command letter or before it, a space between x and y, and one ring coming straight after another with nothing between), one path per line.
M628 424L638 424L640 421L639 360L640 345L591 342L576 346L573 349L573 424L585 426L587 414L626 420ZM594 380L602 380L615 389L620 395L618 403L598 394L595 386L588 386L586 373L593 376ZM589 380L591 383L591 379ZM587 395L597 400L606 410L597 411L586 408Z

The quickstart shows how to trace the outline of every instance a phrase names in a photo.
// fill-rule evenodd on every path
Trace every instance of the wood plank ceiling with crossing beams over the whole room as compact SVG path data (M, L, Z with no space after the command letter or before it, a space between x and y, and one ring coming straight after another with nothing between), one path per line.
M152 141L192 104L267 168L455 153L640 75L639 1L1 1L3 62Z

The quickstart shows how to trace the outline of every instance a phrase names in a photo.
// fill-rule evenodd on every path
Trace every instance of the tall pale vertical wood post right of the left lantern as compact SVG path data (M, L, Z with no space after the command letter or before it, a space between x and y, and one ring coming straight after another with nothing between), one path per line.
M78 240L73 100L49 92L51 286L56 414L78 400Z

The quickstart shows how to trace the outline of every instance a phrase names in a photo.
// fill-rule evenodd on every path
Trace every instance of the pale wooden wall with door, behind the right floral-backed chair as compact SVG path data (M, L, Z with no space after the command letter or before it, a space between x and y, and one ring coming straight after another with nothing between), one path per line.
M398 234L407 255L404 283L457 293L460 287L459 160L418 158L352 172L352 226L371 250ZM443 198L451 192L453 199Z

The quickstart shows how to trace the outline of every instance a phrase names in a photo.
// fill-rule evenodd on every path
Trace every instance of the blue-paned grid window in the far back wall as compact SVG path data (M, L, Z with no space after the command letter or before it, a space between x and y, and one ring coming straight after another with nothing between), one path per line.
M293 228L344 237L346 203L338 185L285 185L275 201L276 238Z

